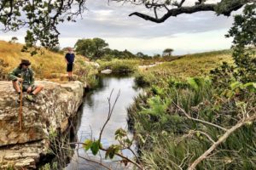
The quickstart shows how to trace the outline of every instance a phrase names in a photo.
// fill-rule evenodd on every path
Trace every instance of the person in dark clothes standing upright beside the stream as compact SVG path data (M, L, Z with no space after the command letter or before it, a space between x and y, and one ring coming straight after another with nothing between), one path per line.
M73 62L75 59L75 54L73 54L72 48L67 48L67 54L65 55L65 60L67 63L67 76L68 82L73 81Z

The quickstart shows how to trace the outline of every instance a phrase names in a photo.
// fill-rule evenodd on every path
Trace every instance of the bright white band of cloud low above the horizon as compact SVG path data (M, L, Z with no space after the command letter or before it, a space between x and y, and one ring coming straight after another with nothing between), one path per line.
M161 54L165 48L173 48L174 54L230 48L231 40L224 38L226 30L194 34L176 34L173 37L105 37L110 48L131 50L133 53Z

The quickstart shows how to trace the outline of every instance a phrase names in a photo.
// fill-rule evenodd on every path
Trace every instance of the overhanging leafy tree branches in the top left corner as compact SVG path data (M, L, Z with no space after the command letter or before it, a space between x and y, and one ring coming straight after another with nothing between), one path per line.
M86 0L2 0L0 1L0 23L2 31L18 31L27 27L26 48L40 42L45 48L58 45L60 32L57 25L64 21L75 21L82 14Z

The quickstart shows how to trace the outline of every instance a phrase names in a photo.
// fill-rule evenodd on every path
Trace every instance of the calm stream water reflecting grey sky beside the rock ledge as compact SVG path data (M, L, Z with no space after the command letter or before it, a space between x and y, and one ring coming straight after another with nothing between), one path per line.
M97 90L86 94L84 97L84 105L82 107L80 122L78 123L78 139L80 142L84 142L85 139L98 139L99 133L104 122L108 116L108 97L112 94L113 101L120 90L119 99L113 109L113 115L108 122L107 126L102 133L102 144L106 148L111 144L118 144L114 139L114 132L122 127L127 130L127 112L126 108L131 105L133 98L137 96L140 90L134 88L133 77L102 77L102 87ZM81 147L81 145L77 146ZM132 157L129 150L124 150L125 156ZM83 149L79 149L79 156L86 157L86 159L94 161L102 161L102 164L111 167L111 169L129 169L131 167L120 166L116 163L119 157L114 157L111 160L105 160L105 153L101 152L101 156L93 156L90 151L85 152ZM106 169L96 163L85 161L79 158L78 152L75 151L72 161L66 167L67 170L77 169ZM101 158L102 157L102 158Z

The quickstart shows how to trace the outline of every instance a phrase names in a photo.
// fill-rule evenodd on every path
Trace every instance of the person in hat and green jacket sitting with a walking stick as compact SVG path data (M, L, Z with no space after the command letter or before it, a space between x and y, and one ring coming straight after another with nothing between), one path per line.
M21 59L20 65L9 73L9 79L13 82L15 91L20 95L20 83L22 82L22 91L26 92L26 99L35 102L35 95L43 88L43 85L34 84L34 73L29 68L31 62L27 59Z

